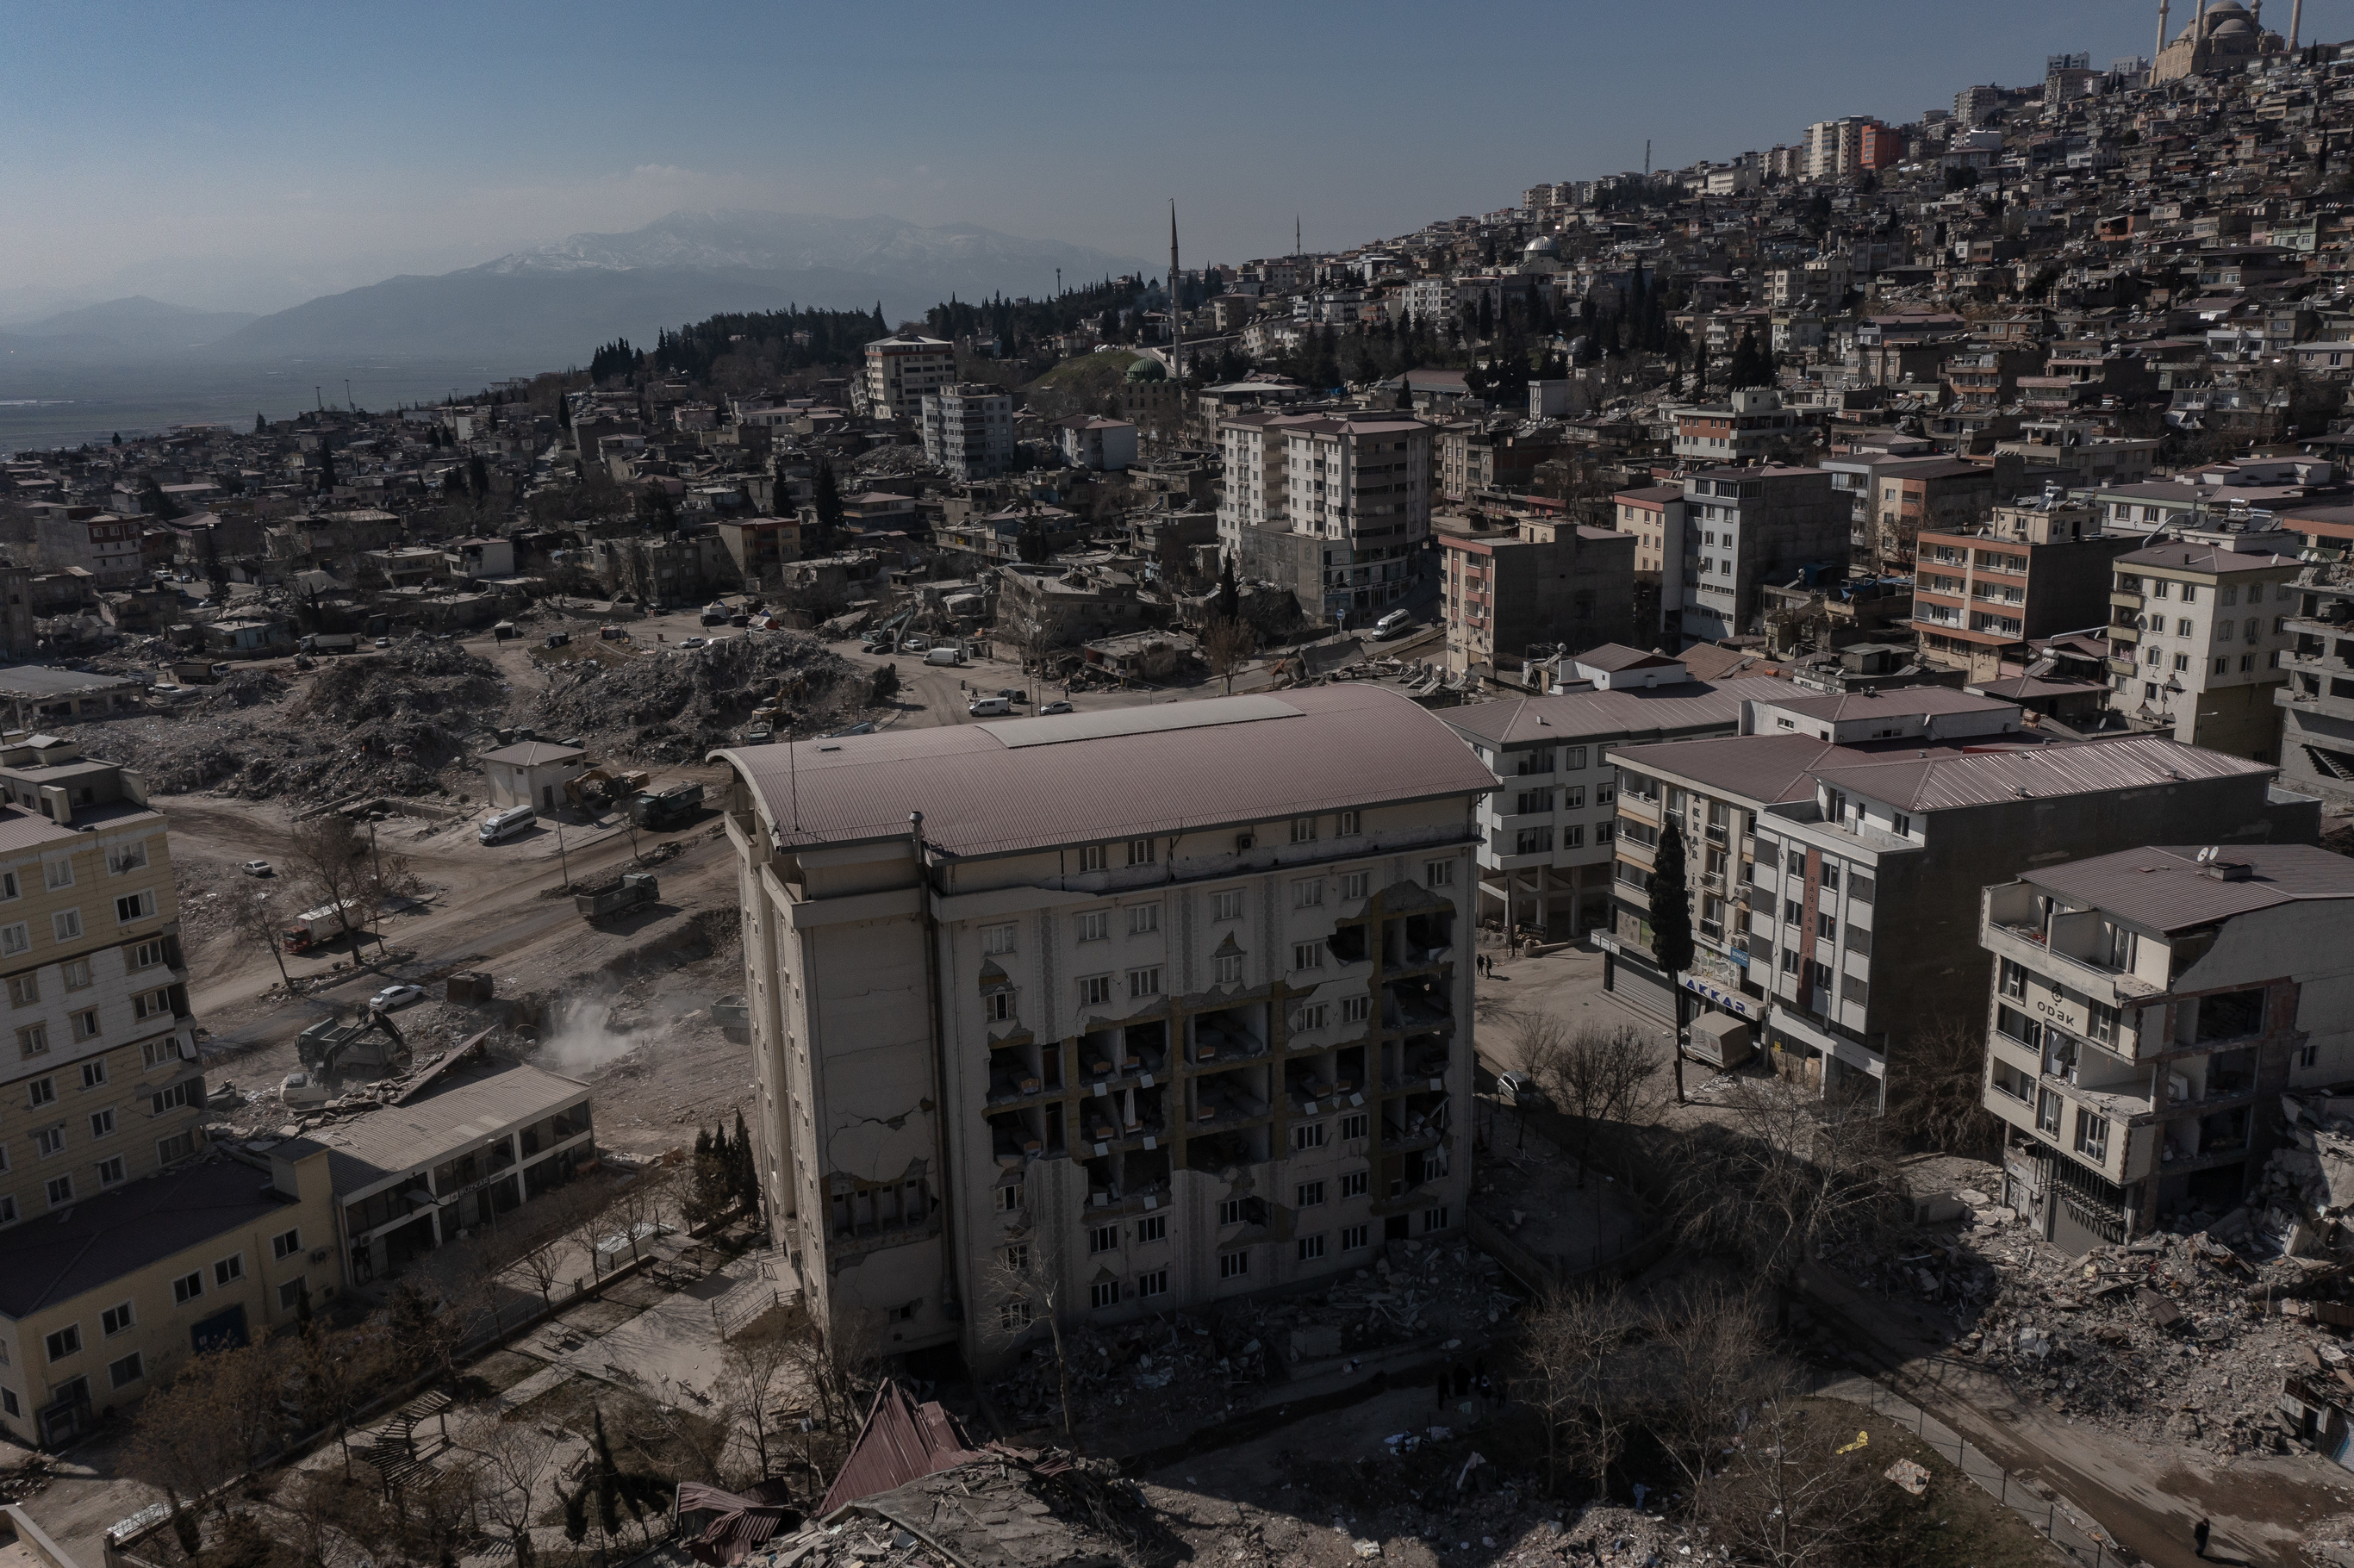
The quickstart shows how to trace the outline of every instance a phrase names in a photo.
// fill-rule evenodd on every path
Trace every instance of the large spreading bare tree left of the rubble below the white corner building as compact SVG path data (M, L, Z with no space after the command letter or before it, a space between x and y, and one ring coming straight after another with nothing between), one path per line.
M1747 1262L1782 1290L1824 1241L1867 1238L1895 1210L1895 1140L1862 1099L1813 1099L1782 1078L1744 1078L1723 1121L1688 1132L1669 1191L1683 1241Z

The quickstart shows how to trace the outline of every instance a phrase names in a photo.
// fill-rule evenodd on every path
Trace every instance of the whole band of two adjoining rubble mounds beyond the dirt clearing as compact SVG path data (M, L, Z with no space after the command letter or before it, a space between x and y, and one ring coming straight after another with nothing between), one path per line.
M579 739L600 760L685 763L739 739L779 697L803 727L850 723L866 678L789 631L548 662L527 680L454 643L412 640L315 671L238 669L177 709L71 732L158 793L480 798L473 756L499 730Z

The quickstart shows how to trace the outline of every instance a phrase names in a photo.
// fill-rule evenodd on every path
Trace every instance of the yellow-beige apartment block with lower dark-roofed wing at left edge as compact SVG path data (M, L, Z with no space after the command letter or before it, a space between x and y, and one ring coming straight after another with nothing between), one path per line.
M139 775L16 732L0 800L0 1424L54 1443L341 1274L308 1260L334 1243L313 1147L282 1144L275 1184L200 1158L172 845Z

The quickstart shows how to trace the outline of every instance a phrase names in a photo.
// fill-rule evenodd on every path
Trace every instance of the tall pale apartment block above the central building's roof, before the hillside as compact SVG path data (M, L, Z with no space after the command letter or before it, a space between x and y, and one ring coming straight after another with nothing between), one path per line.
M1283 584L1325 624L1363 624L1408 593L1431 534L1429 424L1241 414L1219 436L1219 542L1231 527L1245 574Z

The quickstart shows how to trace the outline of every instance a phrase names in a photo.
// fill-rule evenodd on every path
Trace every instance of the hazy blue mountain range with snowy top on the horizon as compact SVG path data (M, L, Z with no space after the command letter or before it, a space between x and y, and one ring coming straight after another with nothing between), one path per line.
M652 344L661 327L716 311L789 304L866 308L890 320L949 299L1048 294L1144 271L1057 240L1019 240L972 224L892 217L673 212L631 233L577 233L435 278L386 278L273 315L184 311L132 297L0 327L0 367L282 360L468 358L516 374L588 360L614 337Z

